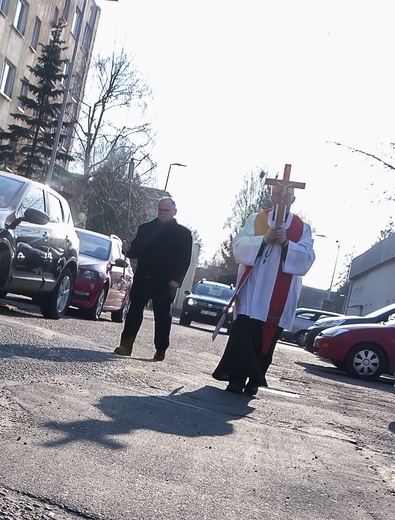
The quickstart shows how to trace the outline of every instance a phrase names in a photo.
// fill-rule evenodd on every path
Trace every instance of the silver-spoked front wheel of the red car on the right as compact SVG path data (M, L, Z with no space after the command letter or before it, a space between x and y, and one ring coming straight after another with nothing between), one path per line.
M382 349L374 343L355 345L347 354L345 367L352 377L374 381L385 371L387 360Z

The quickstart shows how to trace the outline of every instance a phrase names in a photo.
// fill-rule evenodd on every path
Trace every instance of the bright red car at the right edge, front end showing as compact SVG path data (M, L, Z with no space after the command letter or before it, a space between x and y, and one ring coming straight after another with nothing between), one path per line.
M331 327L315 339L318 356L359 379L395 372L395 320Z

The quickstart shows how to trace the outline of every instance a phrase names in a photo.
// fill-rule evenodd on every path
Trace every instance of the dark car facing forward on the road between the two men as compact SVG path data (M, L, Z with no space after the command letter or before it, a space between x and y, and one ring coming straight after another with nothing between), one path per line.
M200 280L187 294L180 316L180 325L189 326L192 321L216 326L234 295L233 285ZM229 333L233 313L229 312L224 328Z

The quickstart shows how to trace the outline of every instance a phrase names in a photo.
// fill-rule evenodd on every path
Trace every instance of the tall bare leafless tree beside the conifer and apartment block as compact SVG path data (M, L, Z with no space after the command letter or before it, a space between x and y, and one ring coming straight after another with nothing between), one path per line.
M83 164L84 177L89 180L114 152L123 149L130 162L132 155L152 143L149 123L140 122L150 90L122 49L94 61L85 92L76 121L74 157ZM125 114L135 120L122 124ZM149 158L148 153L141 153Z

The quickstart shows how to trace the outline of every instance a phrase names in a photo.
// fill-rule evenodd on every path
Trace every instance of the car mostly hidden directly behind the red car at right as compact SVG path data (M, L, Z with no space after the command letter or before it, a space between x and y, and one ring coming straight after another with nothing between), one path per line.
M390 321L395 317L395 303L391 303L386 307L377 309L376 311L367 314L366 316L340 316L339 318L323 318L318 320L307 329L304 338L304 349L309 352L316 352L314 346L314 339L320 332L329 327L339 327L340 325L350 325L356 323L358 325L362 323L380 323L381 321Z

